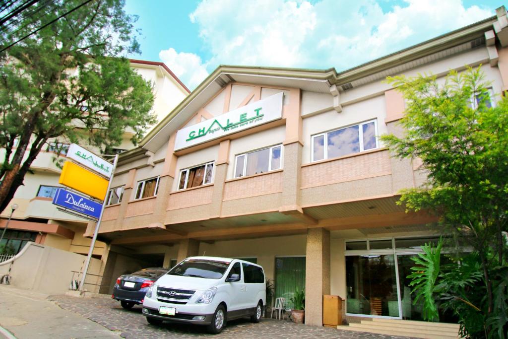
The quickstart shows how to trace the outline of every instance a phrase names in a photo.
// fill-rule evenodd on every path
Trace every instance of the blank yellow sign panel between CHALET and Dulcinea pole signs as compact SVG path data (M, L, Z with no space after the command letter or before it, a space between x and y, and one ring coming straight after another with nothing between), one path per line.
M69 161L63 164L58 182L100 200L104 200L108 190L108 180Z

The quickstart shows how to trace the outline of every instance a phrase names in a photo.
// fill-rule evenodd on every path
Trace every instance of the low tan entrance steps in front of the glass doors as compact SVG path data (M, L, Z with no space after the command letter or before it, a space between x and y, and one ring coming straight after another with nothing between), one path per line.
M460 338L458 324L415 320L373 318L372 320L362 320L360 323L350 323L349 326L337 326L337 329L424 339Z

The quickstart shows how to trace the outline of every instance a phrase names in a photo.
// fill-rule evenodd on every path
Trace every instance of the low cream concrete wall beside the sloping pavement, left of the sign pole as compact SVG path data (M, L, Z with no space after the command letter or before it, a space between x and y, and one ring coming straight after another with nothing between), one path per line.
M79 272L85 256L58 250L51 246L28 242L14 258L0 263L0 276L11 270L11 285L44 293L65 293L69 290L73 273ZM92 258L88 273L99 274L101 261ZM75 276L78 279L78 276ZM97 284L98 278L87 276L86 282ZM95 292L96 287L85 284L85 289Z

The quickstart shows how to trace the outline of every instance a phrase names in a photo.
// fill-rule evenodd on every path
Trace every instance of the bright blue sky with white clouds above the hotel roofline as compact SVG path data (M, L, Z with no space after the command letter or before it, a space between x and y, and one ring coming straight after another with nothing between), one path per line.
M218 65L342 71L494 15L484 0L126 0L142 54L190 88Z

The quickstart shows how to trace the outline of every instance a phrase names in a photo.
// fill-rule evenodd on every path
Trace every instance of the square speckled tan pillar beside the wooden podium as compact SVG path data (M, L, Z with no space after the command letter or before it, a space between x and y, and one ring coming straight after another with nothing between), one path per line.
M307 231L305 325L323 326L323 295L330 294L330 231Z

